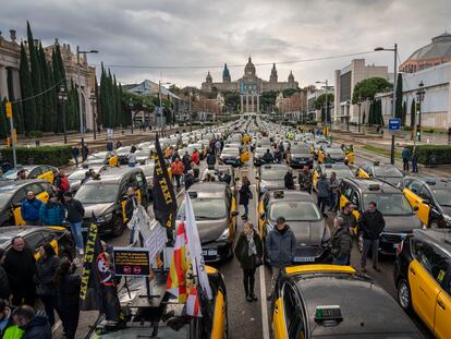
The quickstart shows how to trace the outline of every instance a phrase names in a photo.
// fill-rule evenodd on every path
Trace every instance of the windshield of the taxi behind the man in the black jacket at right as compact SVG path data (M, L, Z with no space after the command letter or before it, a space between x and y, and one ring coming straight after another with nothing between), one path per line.
M413 214L412 206L402 193L365 193L364 206L367 206L369 202L375 202L377 209L385 216L410 216Z

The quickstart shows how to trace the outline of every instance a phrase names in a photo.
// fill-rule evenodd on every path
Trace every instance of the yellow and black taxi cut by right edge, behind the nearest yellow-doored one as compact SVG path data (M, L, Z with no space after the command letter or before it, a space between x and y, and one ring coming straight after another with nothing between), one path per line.
M406 177L400 182L423 225L451 227L451 180L448 178Z

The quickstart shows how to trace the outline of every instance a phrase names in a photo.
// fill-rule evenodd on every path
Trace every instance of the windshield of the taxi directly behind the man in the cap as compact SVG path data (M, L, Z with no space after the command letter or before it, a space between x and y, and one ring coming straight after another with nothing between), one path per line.
M312 202L280 202L271 205L269 218L277 220L284 217L287 221L318 221L321 215Z

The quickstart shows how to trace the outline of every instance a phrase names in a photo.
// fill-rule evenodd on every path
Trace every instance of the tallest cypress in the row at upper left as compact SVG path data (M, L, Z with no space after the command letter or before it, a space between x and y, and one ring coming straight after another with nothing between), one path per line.
M44 112L44 100L42 100L42 74L40 70L40 62L39 56L36 50L36 46L33 39L32 28L29 27L29 23L26 22L26 31L27 31L27 39L28 39L28 51L29 51L29 61L31 61L31 70L32 70L32 82L33 82L33 90L35 93L36 98L36 114L35 114L35 130L39 131L42 123L42 112Z

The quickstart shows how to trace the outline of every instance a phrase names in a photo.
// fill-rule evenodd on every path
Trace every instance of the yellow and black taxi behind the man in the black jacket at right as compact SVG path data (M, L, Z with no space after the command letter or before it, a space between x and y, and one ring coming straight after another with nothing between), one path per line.
M379 251L382 254L394 255L401 241L413 230L423 227L404 194L388 182L345 178L340 184L340 208L346 202L355 206L354 215L357 220L369 202L377 204L377 209L382 213L386 220L386 228L379 241ZM362 251L363 235L357 232L356 237L358 250Z

